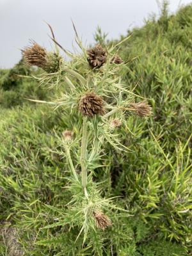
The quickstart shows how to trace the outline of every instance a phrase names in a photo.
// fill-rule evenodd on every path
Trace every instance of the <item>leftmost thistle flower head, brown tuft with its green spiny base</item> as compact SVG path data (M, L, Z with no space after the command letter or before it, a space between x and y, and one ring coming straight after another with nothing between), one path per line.
M33 42L31 47L22 50L24 62L43 68L47 73L57 72L61 64L61 56L55 52L47 52L44 47Z

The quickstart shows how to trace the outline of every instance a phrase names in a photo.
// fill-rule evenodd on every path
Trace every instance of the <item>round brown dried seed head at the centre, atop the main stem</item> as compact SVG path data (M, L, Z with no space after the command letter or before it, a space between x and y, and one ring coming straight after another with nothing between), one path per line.
M79 111L84 116L93 117L93 115L104 114L104 100L94 92L88 92L79 100Z

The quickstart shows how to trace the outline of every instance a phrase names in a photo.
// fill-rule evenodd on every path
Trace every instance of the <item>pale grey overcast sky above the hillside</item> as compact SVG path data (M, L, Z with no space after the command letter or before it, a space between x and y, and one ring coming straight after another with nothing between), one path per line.
M161 1L161 0L159 0ZM72 49L74 31L88 44L99 25L108 38L126 35L127 29L141 26L151 13L159 14L157 0L0 0L0 68L12 67L29 38L51 49L47 36L51 24L58 42ZM191 0L170 0L170 11Z

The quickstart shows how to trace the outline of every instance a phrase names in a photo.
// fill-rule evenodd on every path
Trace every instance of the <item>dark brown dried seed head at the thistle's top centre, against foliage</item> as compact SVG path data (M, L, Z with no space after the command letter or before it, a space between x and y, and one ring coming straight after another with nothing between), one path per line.
M88 63L92 68L100 68L107 59L107 52L99 44L87 51Z

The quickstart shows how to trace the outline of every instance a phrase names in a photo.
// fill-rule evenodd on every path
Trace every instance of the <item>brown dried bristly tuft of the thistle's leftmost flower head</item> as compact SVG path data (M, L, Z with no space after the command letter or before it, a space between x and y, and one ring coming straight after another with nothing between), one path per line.
M36 42L33 42L31 47L26 47L26 49L22 50L22 56L27 65L43 68L47 63L47 51L44 47L36 44Z

